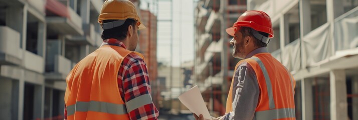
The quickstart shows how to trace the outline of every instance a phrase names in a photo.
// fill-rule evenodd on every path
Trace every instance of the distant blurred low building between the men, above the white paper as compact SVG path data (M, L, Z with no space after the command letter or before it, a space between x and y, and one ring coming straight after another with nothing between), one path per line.
M191 113L177 98L180 94L192 87L193 61L187 61L181 66L159 65L158 84L160 91L159 107L163 114L186 114ZM172 76L170 76L172 69ZM171 80L172 79L172 80Z

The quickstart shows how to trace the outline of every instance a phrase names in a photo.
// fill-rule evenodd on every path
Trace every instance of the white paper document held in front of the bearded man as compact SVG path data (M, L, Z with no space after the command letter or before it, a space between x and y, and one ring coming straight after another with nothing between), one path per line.
M193 113L203 114L204 119L212 119L207 106L205 105L202 94L198 85L178 96L179 100L189 108Z

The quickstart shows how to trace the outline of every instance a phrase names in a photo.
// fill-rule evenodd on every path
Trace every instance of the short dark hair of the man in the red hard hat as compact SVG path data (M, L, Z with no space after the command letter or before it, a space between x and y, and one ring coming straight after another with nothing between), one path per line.
M265 42L262 42L261 40L257 39L254 34L252 33L252 29L250 27L240 27L240 32L242 33L242 36L245 37L245 36L251 36L252 38L255 38L254 40L254 45L255 46L258 46L258 47L266 47L267 44ZM264 35L266 37L268 37L268 33L266 32L261 32L261 31L258 31L261 35Z

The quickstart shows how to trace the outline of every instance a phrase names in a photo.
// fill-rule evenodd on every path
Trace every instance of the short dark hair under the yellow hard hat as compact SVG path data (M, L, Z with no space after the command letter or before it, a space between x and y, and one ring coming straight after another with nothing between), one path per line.
M108 20L103 20L103 23L106 22L111 22L111 21L115 21L117 19L108 19ZM127 37L127 33L128 33L128 26L132 25L133 27L135 27L136 22L133 19L126 19L125 22L117 27L113 27L110 29L104 29L102 32L102 39L109 39L109 38L115 38L118 40L123 40L125 37ZM134 30L134 29L133 29Z

